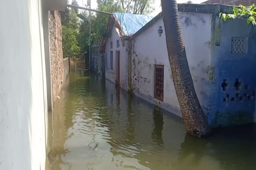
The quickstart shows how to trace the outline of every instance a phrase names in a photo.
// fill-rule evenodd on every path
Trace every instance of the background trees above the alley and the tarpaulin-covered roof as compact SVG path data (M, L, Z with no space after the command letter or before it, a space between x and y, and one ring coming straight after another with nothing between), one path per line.
M120 3L121 0L97 0L97 9L110 13L148 14L154 10L154 1L122 0L122 3ZM71 4L78 6L76 0L72 0ZM124 9L122 4L127 6L127 8ZM89 35L88 20L80 20L77 17L77 12L78 10L71 8L61 12L63 56L75 56L89 51L89 45L101 41L102 34L105 32L105 27L110 17L103 13L91 13L91 35ZM81 11L80 14L89 19L88 11Z

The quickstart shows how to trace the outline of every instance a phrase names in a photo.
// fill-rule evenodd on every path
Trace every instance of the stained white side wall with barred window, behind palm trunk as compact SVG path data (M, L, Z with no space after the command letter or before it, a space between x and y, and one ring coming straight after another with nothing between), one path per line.
M211 14L179 12L190 72L204 112L209 111ZM161 37L159 27L163 28ZM168 60L163 20L159 19L133 41L132 81L135 95L181 116ZM164 65L164 102L154 99L154 64Z

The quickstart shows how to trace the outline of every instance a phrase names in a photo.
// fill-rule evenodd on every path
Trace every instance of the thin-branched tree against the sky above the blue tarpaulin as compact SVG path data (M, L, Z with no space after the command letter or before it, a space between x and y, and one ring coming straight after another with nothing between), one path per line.
M153 12L155 0L118 0L123 11L133 14L149 14Z

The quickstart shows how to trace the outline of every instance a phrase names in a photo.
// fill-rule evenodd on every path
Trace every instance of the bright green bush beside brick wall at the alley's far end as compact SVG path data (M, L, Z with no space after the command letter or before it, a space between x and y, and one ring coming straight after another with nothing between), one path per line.
M62 26L62 50L64 57L76 56L80 53L77 32L68 26Z

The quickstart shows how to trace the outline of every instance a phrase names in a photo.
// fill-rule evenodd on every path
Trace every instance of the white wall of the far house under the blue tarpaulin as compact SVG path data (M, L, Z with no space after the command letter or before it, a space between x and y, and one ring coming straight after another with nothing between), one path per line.
M117 47L116 41L119 40L120 46ZM110 42L113 42L113 48L110 48ZM128 90L128 53L126 52L127 41L122 46L121 38L119 37L116 28L112 28L112 36L108 38L105 48L105 77L113 83L116 83L116 51L120 51L120 87ZM110 69L110 51L113 51L113 70Z

